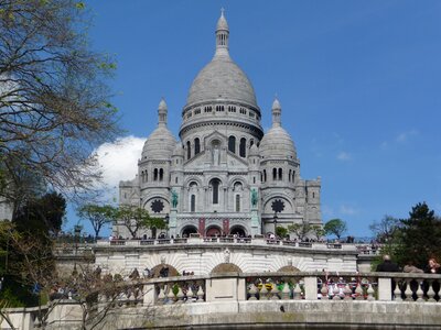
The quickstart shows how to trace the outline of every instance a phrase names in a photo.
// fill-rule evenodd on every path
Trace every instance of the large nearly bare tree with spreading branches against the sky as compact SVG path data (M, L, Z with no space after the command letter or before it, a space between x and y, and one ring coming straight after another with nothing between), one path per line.
M78 3L0 1L0 194L11 202L21 170L57 191L92 189L90 153L120 132L105 82L115 65L89 48Z

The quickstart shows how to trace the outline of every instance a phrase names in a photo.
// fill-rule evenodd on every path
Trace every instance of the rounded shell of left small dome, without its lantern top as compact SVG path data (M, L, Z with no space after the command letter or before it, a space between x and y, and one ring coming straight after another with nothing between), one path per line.
M170 160L176 146L176 139L165 125L159 125L147 139L142 158Z

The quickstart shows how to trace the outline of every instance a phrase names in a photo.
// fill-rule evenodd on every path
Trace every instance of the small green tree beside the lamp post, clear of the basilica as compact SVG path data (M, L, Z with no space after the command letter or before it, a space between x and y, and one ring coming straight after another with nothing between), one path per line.
M90 221L95 231L95 239L98 239L99 231L116 217L117 209L111 205L84 205L78 209L78 217Z

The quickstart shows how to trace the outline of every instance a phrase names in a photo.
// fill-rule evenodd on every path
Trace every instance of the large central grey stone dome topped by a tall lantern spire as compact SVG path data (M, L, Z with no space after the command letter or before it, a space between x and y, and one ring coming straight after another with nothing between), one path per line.
M216 28L216 53L193 80L186 107L202 101L226 99L258 108L251 82L229 57L228 34L228 24L222 14Z

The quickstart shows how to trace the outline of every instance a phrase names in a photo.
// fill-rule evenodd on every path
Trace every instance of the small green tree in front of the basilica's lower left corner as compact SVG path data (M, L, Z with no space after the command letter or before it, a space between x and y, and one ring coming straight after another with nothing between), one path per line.
M140 229L166 229L163 219L152 218L146 209L133 206L120 206L115 212L115 221L126 227L132 239Z

